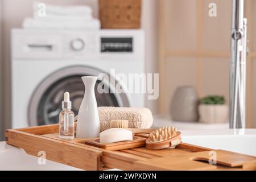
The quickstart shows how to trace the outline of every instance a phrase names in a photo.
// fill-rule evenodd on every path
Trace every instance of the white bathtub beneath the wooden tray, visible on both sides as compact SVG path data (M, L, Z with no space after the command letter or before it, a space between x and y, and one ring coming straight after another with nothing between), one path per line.
M256 129L180 131L184 143L256 156ZM21 148L0 142L0 171L2 170L80 169L49 160L46 160L46 165L39 165L37 157L26 154Z

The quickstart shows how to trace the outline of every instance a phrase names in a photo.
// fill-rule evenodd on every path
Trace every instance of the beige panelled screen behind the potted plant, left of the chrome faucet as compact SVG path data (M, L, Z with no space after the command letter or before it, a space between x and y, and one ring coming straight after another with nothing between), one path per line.
M209 17L208 5L217 5ZM167 114L177 86L193 85L199 97L229 96L229 43L232 1L161 1L160 112Z

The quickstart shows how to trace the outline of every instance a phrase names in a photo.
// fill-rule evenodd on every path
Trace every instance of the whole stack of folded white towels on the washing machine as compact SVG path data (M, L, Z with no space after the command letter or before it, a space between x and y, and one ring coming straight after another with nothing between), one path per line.
M45 16L40 16L42 6L34 3L34 18L23 20L23 28L27 29L76 29L91 30L100 29L100 20L92 16L92 8L89 6L54 6L46 5Z

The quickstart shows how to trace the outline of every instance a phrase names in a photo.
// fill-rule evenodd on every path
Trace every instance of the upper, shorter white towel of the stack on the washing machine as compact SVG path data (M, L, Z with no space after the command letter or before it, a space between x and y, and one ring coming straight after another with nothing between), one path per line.
M38 12L40 9L39 2L34 2L33 10ZM46 5L46 14L53 15L88 15L92 14L92 8L89 6L79 5L79 6L55 6Z

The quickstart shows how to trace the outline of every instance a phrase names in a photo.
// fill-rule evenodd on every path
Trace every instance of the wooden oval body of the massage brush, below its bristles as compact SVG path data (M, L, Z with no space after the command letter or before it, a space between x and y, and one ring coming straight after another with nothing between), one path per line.
M177 146L177 141L181 141L180 137L180 131L177 131L175 137L172 137L171 139L168 140L163 140L161 142L151 142L150 138L146 139L146 148L150 150L160 150L163 148L170 148L170 147L176 147ZM178 140L177 140L178 139Z

